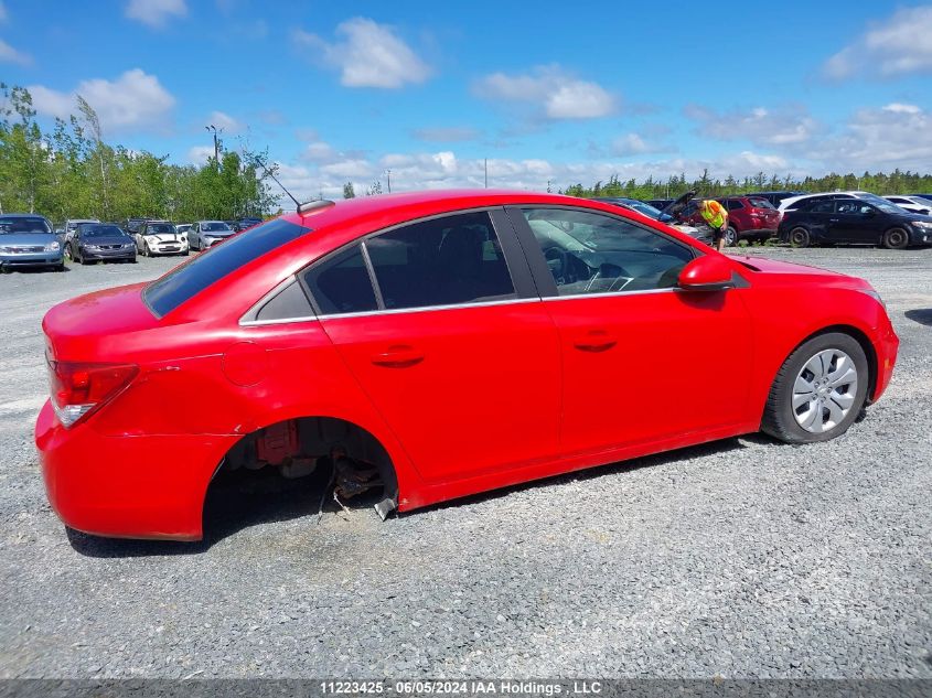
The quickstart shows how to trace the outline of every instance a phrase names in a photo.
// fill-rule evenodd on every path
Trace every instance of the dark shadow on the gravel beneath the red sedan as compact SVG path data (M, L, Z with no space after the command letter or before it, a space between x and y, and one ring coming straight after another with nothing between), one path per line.
M449 507L478 504L490 500L502 497L512 492L523 492L538 487L569 482L594 481L604 475L629 472L642 468L654 468L675 461L704 458L718 453L748 448L742 441L772 445L776 443L770 437L756 433L746 434L739 438L722 439L699 445L666 451L654 455L620 461L608 465L589 468L572 473L554 475L544 480L513 485L490 492L460 497L450 502L435 504L405 516L417 516L419 513L440 511ZM786 447L792 448L792 447ZM224 486L211 487L207 493L207 501L204 505L204 539L196 543L183 543L176 540L133 540L122 538L100 538L67 529L68 541L76 552L94 558L124 558L124 557L152 557L173 555L200 555L210 550L215 544L236 535L243 529L261 524L287 522L297 518L307 518L308 524L313 526L317 522L321 506L324 502L325 516L332 516L339 512L339 507L329 496L322 495L329 490L329 473L317 472L300 480L286 481L278 477L275 471L256 471L249 474L250 479L244 482L233 480L224 483ZM376 490L371 495L363 495L353 500L351 508L369 508L381 498L381 491Z

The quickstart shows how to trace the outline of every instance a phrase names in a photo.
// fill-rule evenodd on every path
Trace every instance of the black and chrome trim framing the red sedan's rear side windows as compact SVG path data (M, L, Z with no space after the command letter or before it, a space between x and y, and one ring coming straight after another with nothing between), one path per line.
M369 239L377 237L379 235L385 235L387 233L392 233L393 230L397 230L400 228L408 227L410 225L416 225L418 223L427 223L429 221L436 221L439 218L448 218L450 216L461 215L461 214L470 214L470 213L488 213L489 218L492 222L492 229L499 238L499 244L502 247L502 255L505 258L505 268L508 270L508 277L512 280L512 286L514 287L515 298L508 298L503 300L495 300L495 301L481 301L474 303L450 303L450 304L442 304L442 305L421 305L418 308L385 308L384 300L382 298L382 290L378 287L378 282L375 278L375 269L372 265L372 259L369 258L368 250L366 249L366 241ZM345 313L325 313L321 310L320 304L318 303L317 299L314 298L313 292L308 287L307 281L304 281L306 272L310 271L311 269L324 265L331 261L339 255L346 253L347 250L352 249L353 247L358 246L360 253L363 256L363 262L366 266L366 271L368 272L369 282L373 286L373 291L375 292L375 300L378 304L378 308L375 310L363 310L358 312L345 312ZM524 255L523 248L519 245L515 232L514 226L510 219L510 217L505 214L505 210L502 206L475 206L470 208L457 208L454 211L444 211L442 213L432 214L429 216L422 216L420 218L411 218L409 221L404 221L401 223L396 223L394 225L379 228L378 230L373 230L372 233L367 233L361 237L356 237L340 247L330 250L320 259L317 259L299 270L296 275L301 283L301 288L307 293L308 298L311 301L311 307L313 308L314 312L317 313L317 320L326 320L331 318L362 318L366 315L376 315L376 314L398 314L398 313L413 313L413 312L428 312L428 311L437 311L437 310L453 310L453 309L463 309L463 308L483 308L488 305L506 305L506 304L514 304L514 303L526 303L526 302L539 302L540 296L537 291L537 287L534 283L533 276L531 270L527 268L527 259ZM299 321L296 321L299 322Z

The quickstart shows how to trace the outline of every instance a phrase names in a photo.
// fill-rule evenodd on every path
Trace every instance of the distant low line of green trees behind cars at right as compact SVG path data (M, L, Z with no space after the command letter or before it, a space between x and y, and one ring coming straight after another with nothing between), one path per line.
M790 175L781 178L778 174L768 176L763 172L758 172L754 176L746 176L741 180L737 180L730 174L725 180L720 180L711 179L708 170L705 170L703 176L693 181L687 181L685 174L673 175L666 180L654 180L649 176L643 182L633 179L622 182L618 175L612 175L608 182L599 181L588 187L582 186L581 183L571 184L561 193L583 198L617 196L646 201L650 198L676 198L686 192L696 192L699 196L715 197L748 192L833 192L836 190L863 190L880 195L928 193L932 192L932 174L893 170L890 174L865 172L857 175L833 172L821 178L794 179Z

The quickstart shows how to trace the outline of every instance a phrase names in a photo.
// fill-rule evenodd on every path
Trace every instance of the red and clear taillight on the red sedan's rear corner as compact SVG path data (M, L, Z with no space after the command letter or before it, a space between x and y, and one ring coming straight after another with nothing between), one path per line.
M139 373L135 364L90 364L49 359L52 408L63 427L99 409Z

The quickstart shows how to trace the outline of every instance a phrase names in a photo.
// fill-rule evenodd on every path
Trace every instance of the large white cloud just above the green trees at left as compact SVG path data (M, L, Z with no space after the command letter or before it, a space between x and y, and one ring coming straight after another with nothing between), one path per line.
M32 101L39 114L67 118L77 112L75 97L81 95L97 111L105 131L126 131L143 128L165 130L174 97L162 87L159 78L140 68L127 71L116 80L94 78L82 80L68 93L30 85Z

